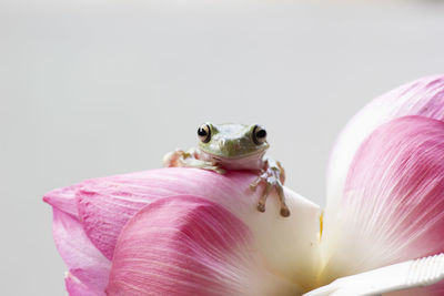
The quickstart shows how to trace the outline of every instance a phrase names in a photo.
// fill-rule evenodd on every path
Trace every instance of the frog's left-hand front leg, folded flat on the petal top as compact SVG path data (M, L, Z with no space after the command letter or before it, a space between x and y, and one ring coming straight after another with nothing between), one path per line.
M199 160L199 155L194 149L189 151L175 150L167 153L163 156L164 167L198 167L202 170L213 171L219 174L224 174L225 170L216 163Z

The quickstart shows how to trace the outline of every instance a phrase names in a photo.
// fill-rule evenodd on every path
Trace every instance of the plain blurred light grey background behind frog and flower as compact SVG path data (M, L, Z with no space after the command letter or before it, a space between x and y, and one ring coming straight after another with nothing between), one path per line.
M443 71L437 0L0 0L0 295L65 295L46 192L160 167L205 121L259 122L324 205L346 121Z

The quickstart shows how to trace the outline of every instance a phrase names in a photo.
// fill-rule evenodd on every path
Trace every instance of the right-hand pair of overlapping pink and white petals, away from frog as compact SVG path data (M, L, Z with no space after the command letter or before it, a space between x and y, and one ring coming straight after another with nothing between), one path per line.
M407 83L361 110L340 135L327 176L322 284L443 253L444 76ZM443 294L443 284L412 290Z

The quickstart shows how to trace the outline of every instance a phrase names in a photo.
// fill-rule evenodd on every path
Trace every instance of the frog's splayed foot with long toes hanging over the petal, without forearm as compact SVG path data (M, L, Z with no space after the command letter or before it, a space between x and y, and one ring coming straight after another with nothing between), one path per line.
M283 216L283 217L290 216L290 210L289 210L289 206L285 203L284 188L283 188L283 185L282 185L281 181L279 180L279 175L276 175L273 170L268 170L264 173L262 173L261 175L259 175L250 184L250 188L252 191L255 191L256 187L261 183L264 183L264 191L262 192L262 195L259 198L258 206L256 206L258 211L262 212L262 213L265 212L266 198L269 197L270 191L272 188L275 188L275 191L278 193L280 207L281 207L281 211L280 211L281 212L281 216Z

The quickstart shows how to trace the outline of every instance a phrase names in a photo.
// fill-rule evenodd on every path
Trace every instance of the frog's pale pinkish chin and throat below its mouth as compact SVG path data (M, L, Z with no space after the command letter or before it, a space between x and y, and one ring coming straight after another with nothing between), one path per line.
M262 170L264 165L264 154L265 150L236 157L225 157L200 151L202 160L216 163L226 170Z

